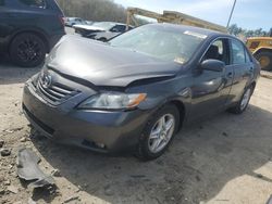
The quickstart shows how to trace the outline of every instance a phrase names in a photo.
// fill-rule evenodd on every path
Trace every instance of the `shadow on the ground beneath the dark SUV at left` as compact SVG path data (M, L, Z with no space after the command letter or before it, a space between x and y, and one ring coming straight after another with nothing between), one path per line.
M25 82L41 67L42 65L33 68L15 66L8 56L0 55L0 85Z

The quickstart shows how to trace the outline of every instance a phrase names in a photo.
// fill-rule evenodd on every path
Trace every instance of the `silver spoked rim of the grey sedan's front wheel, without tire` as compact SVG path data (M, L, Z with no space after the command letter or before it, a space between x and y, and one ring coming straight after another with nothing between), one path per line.
M160 152L171 140L175 129L175 118L172 114L165 114L153 125L148 148L152 153Z

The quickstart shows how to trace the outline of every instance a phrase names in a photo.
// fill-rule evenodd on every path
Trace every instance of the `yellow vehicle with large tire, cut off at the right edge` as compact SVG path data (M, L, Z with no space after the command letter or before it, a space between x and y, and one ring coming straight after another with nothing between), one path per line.
M247 47L260 62L263 71L272 71L272 37L248 38Z

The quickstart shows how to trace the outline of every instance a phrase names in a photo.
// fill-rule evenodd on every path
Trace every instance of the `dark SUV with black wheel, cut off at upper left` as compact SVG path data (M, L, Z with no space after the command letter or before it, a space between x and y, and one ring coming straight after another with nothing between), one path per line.
M37 66L65 34L54 0L0 0L0 52L20 66Z

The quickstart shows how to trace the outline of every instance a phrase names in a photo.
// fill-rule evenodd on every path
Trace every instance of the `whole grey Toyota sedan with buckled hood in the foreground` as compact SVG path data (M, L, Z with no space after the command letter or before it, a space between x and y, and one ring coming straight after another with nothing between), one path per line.
M108 43L65 36L26 82L23 110L55 141L153 160L185 124L243 113L259 74L240 40L202 28L149 24Z

